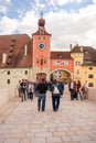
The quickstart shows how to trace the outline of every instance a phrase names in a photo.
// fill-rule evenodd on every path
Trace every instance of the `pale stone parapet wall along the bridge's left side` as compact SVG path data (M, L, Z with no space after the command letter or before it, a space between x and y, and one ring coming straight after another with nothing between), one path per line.
M12 100L17 96L17 89L14 88L3 88L0 89L0 107Z

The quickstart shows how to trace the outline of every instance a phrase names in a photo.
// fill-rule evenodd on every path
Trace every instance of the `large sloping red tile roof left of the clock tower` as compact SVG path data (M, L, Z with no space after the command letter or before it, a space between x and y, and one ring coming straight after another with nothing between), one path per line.
M26 34L0 35L0 68L32 66L32 41ZM28 45L28 55L24 46ZM7 54L7 63L2 64L2 54Z

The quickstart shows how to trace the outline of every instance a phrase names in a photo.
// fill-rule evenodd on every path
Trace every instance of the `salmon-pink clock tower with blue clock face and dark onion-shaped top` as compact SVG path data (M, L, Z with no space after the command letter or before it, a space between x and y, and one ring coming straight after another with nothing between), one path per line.
M33 40L33 80L45 78L50 80L51 34L45 30L45 20L39 19L39 29L32 34Z

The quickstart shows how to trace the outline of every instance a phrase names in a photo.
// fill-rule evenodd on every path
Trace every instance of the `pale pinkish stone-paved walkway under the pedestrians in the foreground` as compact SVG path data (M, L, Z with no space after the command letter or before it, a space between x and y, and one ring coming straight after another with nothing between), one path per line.
M96 102L71 101L67 92L56 112L50 92L44 112L36 102L15 98L0 108L0 143L96 143Z

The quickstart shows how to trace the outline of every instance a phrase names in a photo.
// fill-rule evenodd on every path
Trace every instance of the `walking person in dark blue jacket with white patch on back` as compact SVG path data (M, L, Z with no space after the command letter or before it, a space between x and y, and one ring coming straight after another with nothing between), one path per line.
M62 86L57 82L56 79L53 79L51 85L51 92L52 92L52 107L53 111L57 111L60 107L60 98L63 95Z

